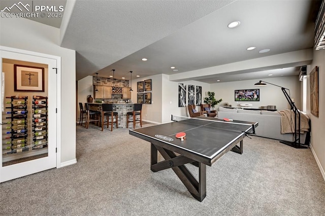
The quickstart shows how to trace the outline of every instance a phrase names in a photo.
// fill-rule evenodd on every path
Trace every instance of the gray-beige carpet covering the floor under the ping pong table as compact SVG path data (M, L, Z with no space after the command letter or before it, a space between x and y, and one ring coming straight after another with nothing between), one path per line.
M171 169L150 171L150 143L127 129L77 126L76 147L77 164L1 183L0 215L325 215L310 149L245 138L243 155L207 166L199 202Z

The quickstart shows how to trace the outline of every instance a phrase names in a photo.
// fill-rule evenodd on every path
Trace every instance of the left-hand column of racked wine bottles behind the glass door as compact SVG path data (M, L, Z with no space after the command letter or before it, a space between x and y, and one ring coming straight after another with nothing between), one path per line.
M6 129L10 129L6 134L11 135L6 137L5 149L8 149L7 153L18 153L28 150L27 147L27 99L28 96L10 96L6 97L11 99L10 102L6 102L10 106L6 107L10 111L7 111L7 114L10 116L6 119L10 119L9 122L6 122ZM9 126L10 125L10 126Z

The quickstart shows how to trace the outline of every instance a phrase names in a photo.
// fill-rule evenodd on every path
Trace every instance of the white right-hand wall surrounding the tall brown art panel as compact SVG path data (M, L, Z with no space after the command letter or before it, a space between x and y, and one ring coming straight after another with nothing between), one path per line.
M309 74L315 66L318 71L319 116L310 113L310 79ZM310 144L315 159L325 179L325 50L314 50L314 60L307 66L307 114L311 121Z

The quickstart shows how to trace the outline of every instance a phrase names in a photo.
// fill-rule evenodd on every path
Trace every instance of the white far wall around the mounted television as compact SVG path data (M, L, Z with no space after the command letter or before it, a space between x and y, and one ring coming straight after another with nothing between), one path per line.
M301 83L297 76L288 76L281 78L267 78L263 79L266 82L273 83L285 88L290 89L291 99L298 109L301 109L301 96L300 88ZM214 91L218 100L222 98L222 102L217 105L217 107L222 106L223 103L228 102L233 107L241 107L241 103L250 103L253 106L251 108L259 108L261 106L274 105L277 110L289 109L289 103L284 97L284 94L280 87L267 84L266 86L255 86L254 84L259 80L243 80L236 82L221 82L211 84L211 91ZM259 101L250 102L236 102L235 101L235 90L238 89L254 89L259 88Z

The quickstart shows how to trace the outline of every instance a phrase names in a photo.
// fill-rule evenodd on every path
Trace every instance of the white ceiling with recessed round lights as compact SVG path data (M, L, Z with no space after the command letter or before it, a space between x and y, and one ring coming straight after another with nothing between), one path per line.
M112 69L116 70L115 78L128 79L129 71L133 71L133 77L172 75L312 48L319 3L308 0L69 0L66 9L73 10L63 17L63 22L68 24L61 25L64 33L61 46L77 52L77 80L95 72L108 77L113 74ZM241 24L228 28L235 20ZM256 49L247 51L250 46ZM262 49L271 51L258 53ZM142 61L143 57L148 61ZM299 74L301 65L298 64L195 80L215 83L216 80L261 79L269 74L292 76Z

